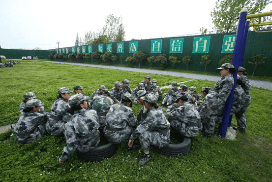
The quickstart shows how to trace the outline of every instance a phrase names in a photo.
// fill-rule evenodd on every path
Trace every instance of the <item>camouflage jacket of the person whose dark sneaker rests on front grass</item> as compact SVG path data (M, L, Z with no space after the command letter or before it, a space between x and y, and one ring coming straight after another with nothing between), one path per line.
M130 139L134 141L137 137L143 134L145 131L156 131L160 133L165 129L170 128L170 123L167 121L163 111L160 108L152 107L148 110L147 117L142 121L140 125L137 126L136 130L131 134ZM169 136L164 136L160 133L163 140L168 141Z

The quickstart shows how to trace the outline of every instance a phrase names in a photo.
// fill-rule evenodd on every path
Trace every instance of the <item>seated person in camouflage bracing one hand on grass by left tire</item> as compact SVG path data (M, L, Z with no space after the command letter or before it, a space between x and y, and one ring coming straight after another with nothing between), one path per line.
M81 93L69 98L69 104L74 111L70 120L64 125L64 137L66 146L63 148L59 162L62 163L77 149L87 152L98 146L100 132L95 110L87 110L89 97Z

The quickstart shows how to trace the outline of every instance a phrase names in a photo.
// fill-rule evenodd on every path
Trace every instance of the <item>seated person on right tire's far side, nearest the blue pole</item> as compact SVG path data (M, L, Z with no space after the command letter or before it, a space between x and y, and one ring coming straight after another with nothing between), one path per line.
M180 94L176 103L180 106L172 111L167 110L168 120L171 127L185 137L195 137L202 130L201 118L195 106L188 103L188 98Z

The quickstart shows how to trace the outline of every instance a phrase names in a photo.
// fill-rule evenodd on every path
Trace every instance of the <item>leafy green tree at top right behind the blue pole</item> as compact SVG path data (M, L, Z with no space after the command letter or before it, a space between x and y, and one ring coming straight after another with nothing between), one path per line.
M248 14L260 13L271 0L217 0L211 12L216 33L237 31L239 12L247 8Z

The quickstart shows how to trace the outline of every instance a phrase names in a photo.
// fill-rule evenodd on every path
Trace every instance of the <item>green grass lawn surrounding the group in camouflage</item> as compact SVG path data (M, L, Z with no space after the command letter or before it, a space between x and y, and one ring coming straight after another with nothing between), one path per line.
M81 66L57 65L39 61L22 61L22 65L0 69L0 125L15 122L19 117L19 105L26 92L33 91L50 111L62 86L80 84L83 93L91 95L98 85L108 90L115 81L127 78L131 88L142 81L145 73ZM187 78L151 74L159 86ZM207 80L189 81L187 86L196 86L197 92L203 86L213 87L215 82ZM163 89L167 92L168 89ZM32 144L0 143L0 181L215 181L215 182L269 182L272 181L272 129L270 90L252 87L252 104L246 113L246 133L238 133L235 141L203 139L201 135L192 139L191 150L185 156L168 157L151 150L151 161L139 167L142 149L125 152L127 142L118 146L117 153L102 162L85 162L76 152L63 164L58 163L65 146L64 138L45 136ZM160 104L161 102L159 102ZM140 105L133 106L136 115ZM233 124L237 126L235 117ZM11 130L0 135L5 138ZM175 143L175 141L172 141Z

